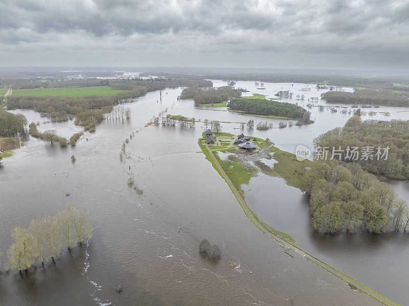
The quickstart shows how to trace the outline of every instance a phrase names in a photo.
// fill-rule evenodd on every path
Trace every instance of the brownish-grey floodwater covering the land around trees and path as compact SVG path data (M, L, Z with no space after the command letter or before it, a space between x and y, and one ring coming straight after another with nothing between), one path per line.
M221 81L215 81L215 85L218 83ZM236 86L250 90L252 84L238 82ZM266 83L265 87L273 93L280 90L281 84ZM95 133L86 133L75 147L60 148L31 138L26 147L15 150L5 160L5 167L0 170L2 264L7 261L14 224L28 226L31 218L55 214L68 204L87 211L94 232L88 244L75 248L72 255L60 254L56 266L49 263L46 269L31 269L21 277L15 271L6 274L2 265L0 304L285 305L289 298L296 305L378 304L304 258L289 257L245 217L228 185L210 162L196 153L197 138L203 130L200 124L194 129L144 127L152 115L166 107L169 114L202 120L260 119L198 109L191 100L177 101L180 91L181 88L164 90L162 101L158 91L135 99L126 105L132 110L131 120L104 121ZM41 122L35 112L22 112L31 113L29 121ZM329 111L320 113L313 109L312 113L317 123L310 126L244 133L269 137L281 149L292 152L299 140L310 145L314 137L344 125L348 119L348 115ZM279 122L261 120L275 126ZM40 131L50 128L47 125L51 124L40 124L38 128ZM222 125L226 132L239 131L235 129L238 124ZM63 136L77 131L72 122L53 123L52 127ZM122 143L136 131L126 146L127 158L121 163ZM77 158L75 163L71 162L72 154ZM272 162L267 166L272 166ZM142 196L128 187L129 177L143 190ZM261 193L263 183L275 194ZM405 190L407 185L400 183L397 184ZM391 253L388 261L382 259L387 256L383 252L400 250L393 246L403 246L406 236L398 235L401 244L393 234L377 238L381 246L371 249L368 245L373 238L356 235L351 241L362 245L356 252L355 245L349 246L353 242L345 238L316 237L309 226L305 197L281 179L260 174L248 187L246 201L263 221L289 232L310 253L402 302L407 285L395 270L408 271L407 254L396 254L400 258L399 267L390 266ZM71 195L66 197L66 192ZM263 209L268 214L263 215ZM218 263L199 256L198 245L203 238L222 248L223 257ZM336 251L328 251L331 245L339 246ZM360 267L362 258L368 260L371 252L372 257L380 256L379 260L370 269ZM348 263L348 256L361 260ZM239 267L229 267L230 261ZM376 273L379 266L384 267L382 272L387 267L391 271ZM400 283L398 288L396 282L388 282L393 277ZM381 288L374 288L377 285L374 278L387 280ZM123 287L120 294L116 292L118 285Z

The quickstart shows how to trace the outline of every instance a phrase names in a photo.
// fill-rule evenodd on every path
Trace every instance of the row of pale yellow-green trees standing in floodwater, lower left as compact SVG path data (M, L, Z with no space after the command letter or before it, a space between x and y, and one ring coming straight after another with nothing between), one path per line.
M55 216L32 219L29 228L18 225L11 236L13 244L7 251L7 269L19 272L30 268L35 262L44 262L50 258L55 263L55 256L63 249L82 244L91 237L92 225L82 209L67 206Z

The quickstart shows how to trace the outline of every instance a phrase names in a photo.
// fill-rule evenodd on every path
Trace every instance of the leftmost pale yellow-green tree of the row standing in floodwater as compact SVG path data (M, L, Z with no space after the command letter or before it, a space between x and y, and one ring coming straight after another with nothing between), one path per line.
M9 269L17 268L20 273L22 270L27 272L27 269L34 263L33 250L30 246L27 229L16 225L11 237L14 238L14 243L7 251L7 267Z

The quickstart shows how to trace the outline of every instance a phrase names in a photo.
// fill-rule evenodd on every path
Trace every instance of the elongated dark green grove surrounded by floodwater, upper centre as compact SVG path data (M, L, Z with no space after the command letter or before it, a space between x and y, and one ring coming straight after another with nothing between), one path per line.
M264 99L233 99L228 103L233 110L245 111L257 115L274 115L290 118L302 118L307 112L301 106Z

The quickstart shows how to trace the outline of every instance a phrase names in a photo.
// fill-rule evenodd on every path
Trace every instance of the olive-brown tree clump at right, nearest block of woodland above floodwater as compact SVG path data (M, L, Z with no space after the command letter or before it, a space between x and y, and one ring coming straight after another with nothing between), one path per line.
M398 199L391 185L380 182L359 164L314 161L303 178L312 225L321 233L359 228L383 233L409 228L407 204Z

